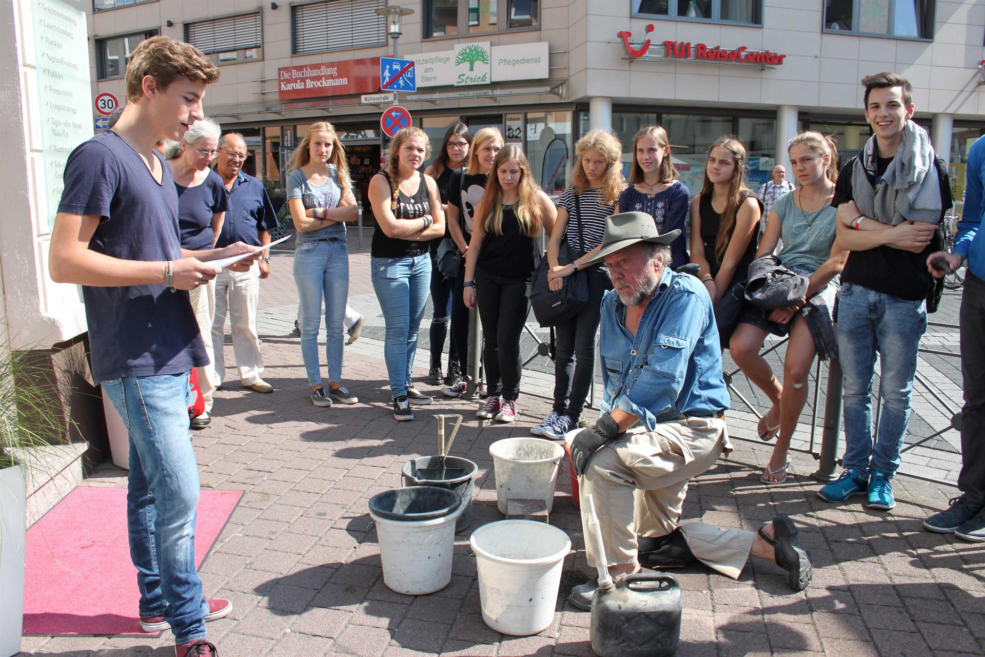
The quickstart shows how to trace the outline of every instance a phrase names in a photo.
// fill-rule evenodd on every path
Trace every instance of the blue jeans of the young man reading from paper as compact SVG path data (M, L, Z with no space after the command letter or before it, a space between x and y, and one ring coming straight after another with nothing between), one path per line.
M198 465L188 430L188 372L102 382L130 435L127 529L140 618L163 616L176 643L205 637L195 572Z

